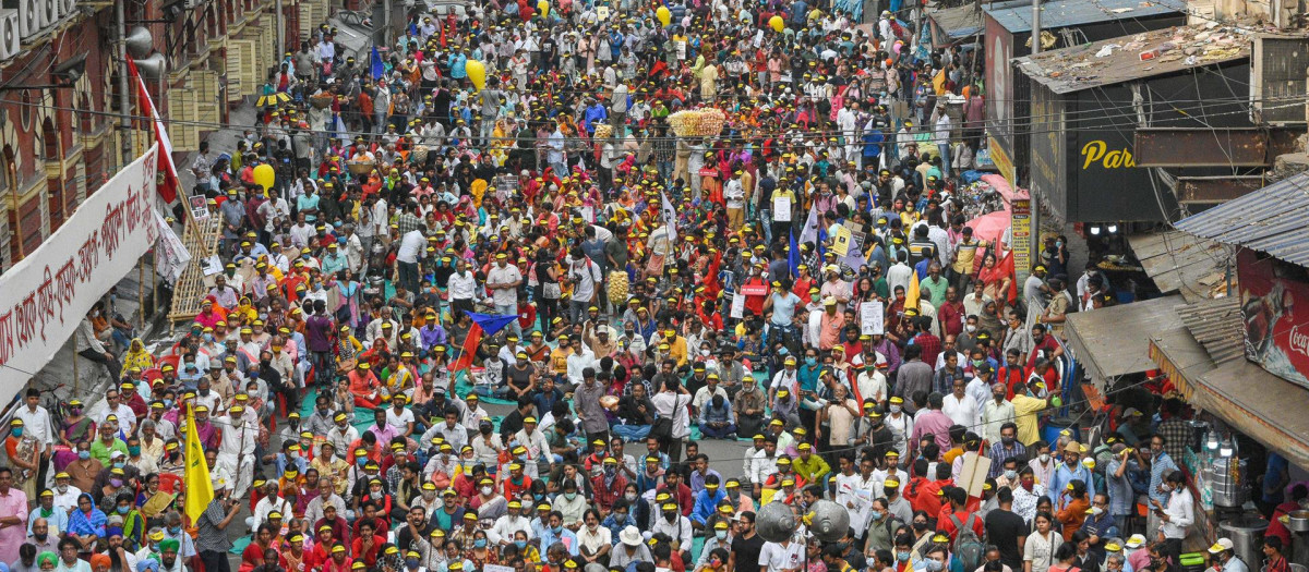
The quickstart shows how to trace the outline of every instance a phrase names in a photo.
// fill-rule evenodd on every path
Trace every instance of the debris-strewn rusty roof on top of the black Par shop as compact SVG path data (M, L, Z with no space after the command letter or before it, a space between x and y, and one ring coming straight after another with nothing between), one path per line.
M1042 21L1045 24L1045 21ZM1250 57L1250 38L1237 27L1175 26L1051 50L1014 61L1056 94L1164 76ZM1141 54L1153 54L1141 59Z

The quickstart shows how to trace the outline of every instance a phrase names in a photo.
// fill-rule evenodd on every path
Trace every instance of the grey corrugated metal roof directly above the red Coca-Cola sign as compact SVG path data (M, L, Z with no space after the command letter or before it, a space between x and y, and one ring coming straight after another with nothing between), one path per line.
M1174 227L1223 244L1309 266L1309 172L1178 221Z

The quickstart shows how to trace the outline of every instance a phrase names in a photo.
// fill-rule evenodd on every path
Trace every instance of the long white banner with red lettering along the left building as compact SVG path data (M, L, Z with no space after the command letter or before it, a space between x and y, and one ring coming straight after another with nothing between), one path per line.
M151 146L0 276L0 402L54 359L90 307L154 244L157 157Z

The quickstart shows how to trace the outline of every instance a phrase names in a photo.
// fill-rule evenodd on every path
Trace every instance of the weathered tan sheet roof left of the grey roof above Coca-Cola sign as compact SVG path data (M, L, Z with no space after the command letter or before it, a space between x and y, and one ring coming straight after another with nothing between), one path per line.
M1177 230L1131 235L1127 242L1161 293L1178 293L1186 302L1227 294L1230 253L1223 244Z

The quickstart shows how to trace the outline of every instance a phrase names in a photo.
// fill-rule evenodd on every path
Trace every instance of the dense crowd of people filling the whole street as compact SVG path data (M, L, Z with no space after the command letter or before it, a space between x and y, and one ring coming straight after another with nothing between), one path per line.
M978 51L869 16L491 0L376 60L301 38L190 165L225 269L181 341L97 306L106 404L16 414L0 563L223 572L247 530L241 572L1178 569L1182 407L1128 388L1109 437L1043 432L1109 283L1062 236L1017 283L973 235ZM757 532L819 499L840 542Z

